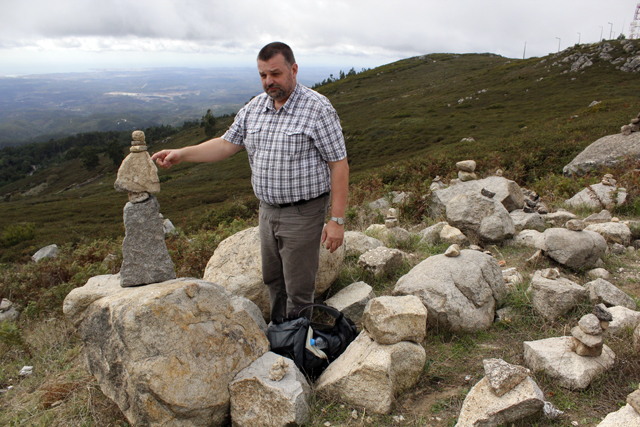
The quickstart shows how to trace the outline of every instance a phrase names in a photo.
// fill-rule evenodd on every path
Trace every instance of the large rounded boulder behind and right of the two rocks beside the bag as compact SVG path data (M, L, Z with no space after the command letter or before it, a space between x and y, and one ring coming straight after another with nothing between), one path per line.
M457 257L435 255L402 276L393 295L415 295L427 307L427 322L454 331L486 329L506 287L498 262L465 249Z

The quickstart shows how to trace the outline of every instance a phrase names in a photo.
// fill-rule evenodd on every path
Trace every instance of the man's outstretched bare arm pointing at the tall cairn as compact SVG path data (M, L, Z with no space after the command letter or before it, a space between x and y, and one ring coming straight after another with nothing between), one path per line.
M164 169L181 162L218 162L242 150L242 145L233 144L223 138L214 138L198 145L162 150L151 156Z

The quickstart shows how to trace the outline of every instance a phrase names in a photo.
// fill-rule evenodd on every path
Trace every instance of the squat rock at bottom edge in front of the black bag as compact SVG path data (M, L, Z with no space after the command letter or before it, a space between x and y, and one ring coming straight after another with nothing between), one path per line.
M269 368L279 358L269 351L229 383L234 426L299 426L309 422L311 388L293 360L285 359L289 367L280 381L269 376Z

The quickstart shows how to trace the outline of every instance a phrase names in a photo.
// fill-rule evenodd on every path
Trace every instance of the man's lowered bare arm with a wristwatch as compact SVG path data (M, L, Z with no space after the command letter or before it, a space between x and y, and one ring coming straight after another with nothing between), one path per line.
M344 218L349 193L349 163L345 157L337 162L329 162L331 171L331 216ZM344 240L344 225L329 221L322 231L322 243L333 253Z

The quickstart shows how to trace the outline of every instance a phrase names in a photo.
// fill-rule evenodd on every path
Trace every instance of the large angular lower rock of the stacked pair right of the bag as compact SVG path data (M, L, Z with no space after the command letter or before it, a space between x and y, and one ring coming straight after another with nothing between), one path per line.
M388 414L398 394L418 381L425 361L419 344L379 344L362 331L320 375L315 388L321 395Z

